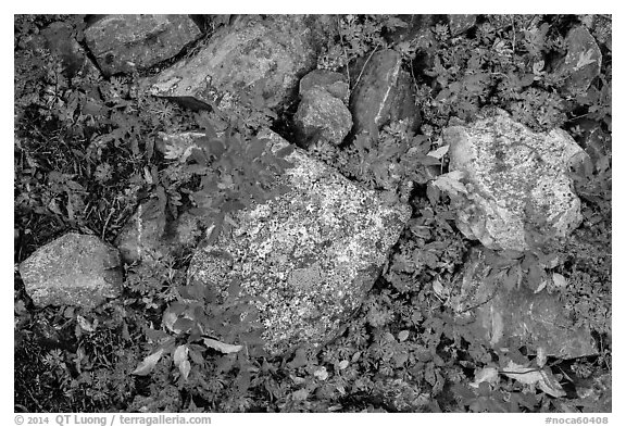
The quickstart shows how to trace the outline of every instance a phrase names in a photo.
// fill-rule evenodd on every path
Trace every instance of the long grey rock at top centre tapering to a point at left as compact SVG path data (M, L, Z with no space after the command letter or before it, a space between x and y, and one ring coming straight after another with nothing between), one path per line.
M247 15L218 29L193 58L148 79L150 93L192 108L230 110L245 98L261 98L268 109L293 95L313 70L322 17Z

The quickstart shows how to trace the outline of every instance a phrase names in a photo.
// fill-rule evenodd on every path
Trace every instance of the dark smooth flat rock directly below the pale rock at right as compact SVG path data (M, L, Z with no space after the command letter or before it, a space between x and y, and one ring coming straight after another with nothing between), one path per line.
M473 249L452 289L455 319L493 349L526 346L530 353L574 359L598 353L590 330L575 327L558 293L534 293L521 278L506 289L503 279L487 279L491 266L485 253Z

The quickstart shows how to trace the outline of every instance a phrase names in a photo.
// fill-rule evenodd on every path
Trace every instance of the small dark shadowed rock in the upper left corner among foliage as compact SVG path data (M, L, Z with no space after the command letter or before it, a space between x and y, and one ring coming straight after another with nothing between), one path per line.
M54 22L41 30L46 47L51 53L61 56L65 74L72 78L78 74L87 74L96 67L85 55L85 51L72 34L72 26Z

